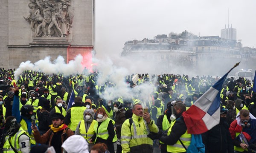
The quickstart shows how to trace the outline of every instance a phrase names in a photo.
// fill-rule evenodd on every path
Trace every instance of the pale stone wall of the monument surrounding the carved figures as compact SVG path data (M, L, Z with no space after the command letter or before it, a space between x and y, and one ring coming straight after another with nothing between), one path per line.
M67 61L67 48L84 46L93 49L94 44L94 0L70 0L69 10L74 14L72 28L67 38L35 37L27 17L30 0L0 0L0 67L17 68L20 62L36 62L59 55ZM38 40L38 38L40 38ZM81 51L80 51L81 52ZM79 53L79 51L78 51Z

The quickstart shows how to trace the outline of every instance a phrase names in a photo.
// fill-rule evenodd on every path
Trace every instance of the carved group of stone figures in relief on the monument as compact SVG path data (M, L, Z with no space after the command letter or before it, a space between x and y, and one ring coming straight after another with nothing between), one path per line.
M73 21L68 6L70 0L30 0L29 15L24 19L35 37L67 37Z

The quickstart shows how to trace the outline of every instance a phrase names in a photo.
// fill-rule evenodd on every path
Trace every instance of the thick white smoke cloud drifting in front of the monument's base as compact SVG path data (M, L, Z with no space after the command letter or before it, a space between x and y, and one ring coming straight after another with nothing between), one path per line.
M62 56L58 56L53 62L51 57L45 57L34 64L31 61L21 62L19 68L14 73L15 79L23 73L24 70L32 70L38 72L44 72L45 74L61 73L64 76L71 74L81 74L84 67L81 65L83 57L79 54L74 60L65 63L65 59Z

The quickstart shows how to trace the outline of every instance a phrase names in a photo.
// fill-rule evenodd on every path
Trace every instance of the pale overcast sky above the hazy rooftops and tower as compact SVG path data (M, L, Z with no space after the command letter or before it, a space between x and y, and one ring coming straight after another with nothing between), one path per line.
M189 31L221 36L229 23L243 46L256 47L256 0L96 0L96 57L120 55L127 40Z

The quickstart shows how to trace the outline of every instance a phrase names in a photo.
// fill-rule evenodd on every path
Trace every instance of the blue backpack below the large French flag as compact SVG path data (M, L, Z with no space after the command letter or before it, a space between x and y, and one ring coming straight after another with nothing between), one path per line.
M187 153L204 153L205 147L202 140L201 134L191 134L191 142L188 148L185 147L185 145L181 142L182 146L185 148Z

